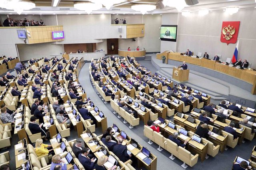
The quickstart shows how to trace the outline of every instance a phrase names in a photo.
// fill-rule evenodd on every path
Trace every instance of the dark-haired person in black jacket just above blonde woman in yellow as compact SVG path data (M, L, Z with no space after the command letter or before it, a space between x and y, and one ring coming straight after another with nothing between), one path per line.
M32 134L41 133L41 136L45 136L43 139L45 141L48 141L48 139L46 138L46 136L47 136L46 129L44 127L42 127L43 123L38 125L36 123L36 119L37 118L35 116L30 117L30 123L28 124L29 130L31 131Z

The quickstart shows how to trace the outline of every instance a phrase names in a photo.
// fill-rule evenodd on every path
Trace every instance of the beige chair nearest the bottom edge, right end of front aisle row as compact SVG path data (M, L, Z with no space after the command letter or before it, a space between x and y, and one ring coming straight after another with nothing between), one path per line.
M178 147L178 158L183 161L182 168L186 169L188 164L190 167L194 166L198 160L198 154L192 155L188 150Z

